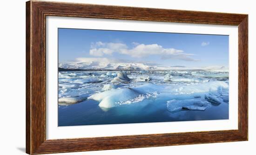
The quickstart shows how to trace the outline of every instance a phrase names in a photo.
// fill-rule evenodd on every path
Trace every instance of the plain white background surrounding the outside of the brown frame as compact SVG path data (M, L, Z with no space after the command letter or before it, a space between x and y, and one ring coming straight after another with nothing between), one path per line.
M25 154L25 1L0 3L0 154ZM255 155L256 11L253 0L60 0L249 14L249 141L66 153L66 155ZM254 35L253 35L254 34ZM62 155L62 154L59 154ZM65 154L63 154L65 155Z

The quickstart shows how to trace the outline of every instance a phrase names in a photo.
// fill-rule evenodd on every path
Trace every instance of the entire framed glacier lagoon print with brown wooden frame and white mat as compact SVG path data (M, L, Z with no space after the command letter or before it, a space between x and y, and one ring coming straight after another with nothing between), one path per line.
M248 140L248 15L28 1L26 152Z

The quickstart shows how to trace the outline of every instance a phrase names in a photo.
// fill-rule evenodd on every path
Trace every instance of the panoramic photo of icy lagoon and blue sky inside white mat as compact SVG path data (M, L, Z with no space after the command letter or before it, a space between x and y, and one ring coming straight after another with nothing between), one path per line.
M229 119L229 36L58 28L58 126Z

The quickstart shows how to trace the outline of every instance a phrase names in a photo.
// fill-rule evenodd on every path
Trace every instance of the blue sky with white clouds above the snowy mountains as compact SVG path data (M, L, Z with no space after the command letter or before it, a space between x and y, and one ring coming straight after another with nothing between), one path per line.
M228 66L229 36L58 29L59 63L79 58L163 66Z

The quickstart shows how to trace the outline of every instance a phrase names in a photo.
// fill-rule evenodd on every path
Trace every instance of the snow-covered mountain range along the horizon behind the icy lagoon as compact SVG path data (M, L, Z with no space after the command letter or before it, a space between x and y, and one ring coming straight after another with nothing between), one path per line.
M147 63L109 63L107 61L76 61L69 63L59 63L59 68L64 69L84 69L84 70L164 70L164 71L221 71L228 72L229 68L225 66L208 67L185 67L185 66L160 66L149 65Z

